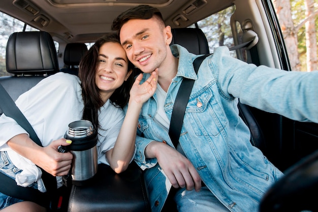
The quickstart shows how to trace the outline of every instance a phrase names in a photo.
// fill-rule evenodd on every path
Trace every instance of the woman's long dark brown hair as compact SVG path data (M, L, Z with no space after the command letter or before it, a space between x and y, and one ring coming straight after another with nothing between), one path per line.
M83 55L79 65L79 78L81 80L82 98L84 102L83 119L90 121L97 129L100 128L98 121L98 111L104 105L100 96L99 88L95 82L96 72L99 67L99 50L105 43L119 43L119 38L116 33L108 33L99 38L93 46ZM110 101L118 108L123 108L129 101L130 89L134 83L136 72L134 65L129 61L128 70L133 70L128 80L117 88L110 96Z

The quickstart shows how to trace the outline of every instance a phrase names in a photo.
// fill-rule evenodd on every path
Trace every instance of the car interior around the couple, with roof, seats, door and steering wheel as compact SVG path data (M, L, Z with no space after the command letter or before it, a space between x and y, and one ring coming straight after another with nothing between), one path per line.
M236 57L291 71L270 0L2 0L1 12L38 31L10 35L5 52L9 75L0 77L0 84L16 100L47 76L58 72L77 75L80 59L88 50L86 43L110 32L119 13L140 4L161 10L166 24L172 27L171 45L179 44L197 55L213 54L208 36L197 22L234 6L229 24L233 45L229 47ZM240 102L238 109L250 129L251 144L287 174L265 195L260 211L314 211L315 201L309 191L318 187L318 173L313 171L318 168L318 124L290 120ZM99 164L89 184L69 185L59 198L63 201L56 211L150 211L143 173L135 162L120 174ZM291 206L290 201L295 204ZM167 204L169 211L176 211L175 205Z

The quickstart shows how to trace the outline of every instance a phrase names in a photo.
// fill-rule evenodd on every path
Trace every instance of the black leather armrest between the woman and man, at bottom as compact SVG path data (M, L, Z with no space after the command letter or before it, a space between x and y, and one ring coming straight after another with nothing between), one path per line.
M141 169L133 161L128 169L116 174L110 166L99 164L88 185L73 185L68 211L150 211Z

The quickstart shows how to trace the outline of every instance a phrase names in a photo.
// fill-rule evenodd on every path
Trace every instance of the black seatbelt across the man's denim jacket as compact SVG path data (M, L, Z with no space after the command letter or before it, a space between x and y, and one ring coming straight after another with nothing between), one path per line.
M198 74L198 70L202 61L209 55L211 54L202 55L200 57L197 57L193 61L193 67L195 69L196 74ZM192 91L192 87L194 83L195 83L195 80L188 79L188 78L182 79L180 88L178 90L178 93L173 105L171 120L170 120L170 127L169 127L169 136L175 148L177 148L177 145L179 142L185 108L188 103L189 96Z

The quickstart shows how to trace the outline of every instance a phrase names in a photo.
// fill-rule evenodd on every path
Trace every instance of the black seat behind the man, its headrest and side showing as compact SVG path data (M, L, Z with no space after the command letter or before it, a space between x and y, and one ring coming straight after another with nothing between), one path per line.
M170 45L179 44L185 47L189 52L197 55L210 53L206 36L200 28L174 28L171 29L171 31L173 37ZM239 102L238 108L240 117L249 127L251 144L265 152L265 138L259 124L251 113L249 106Z

